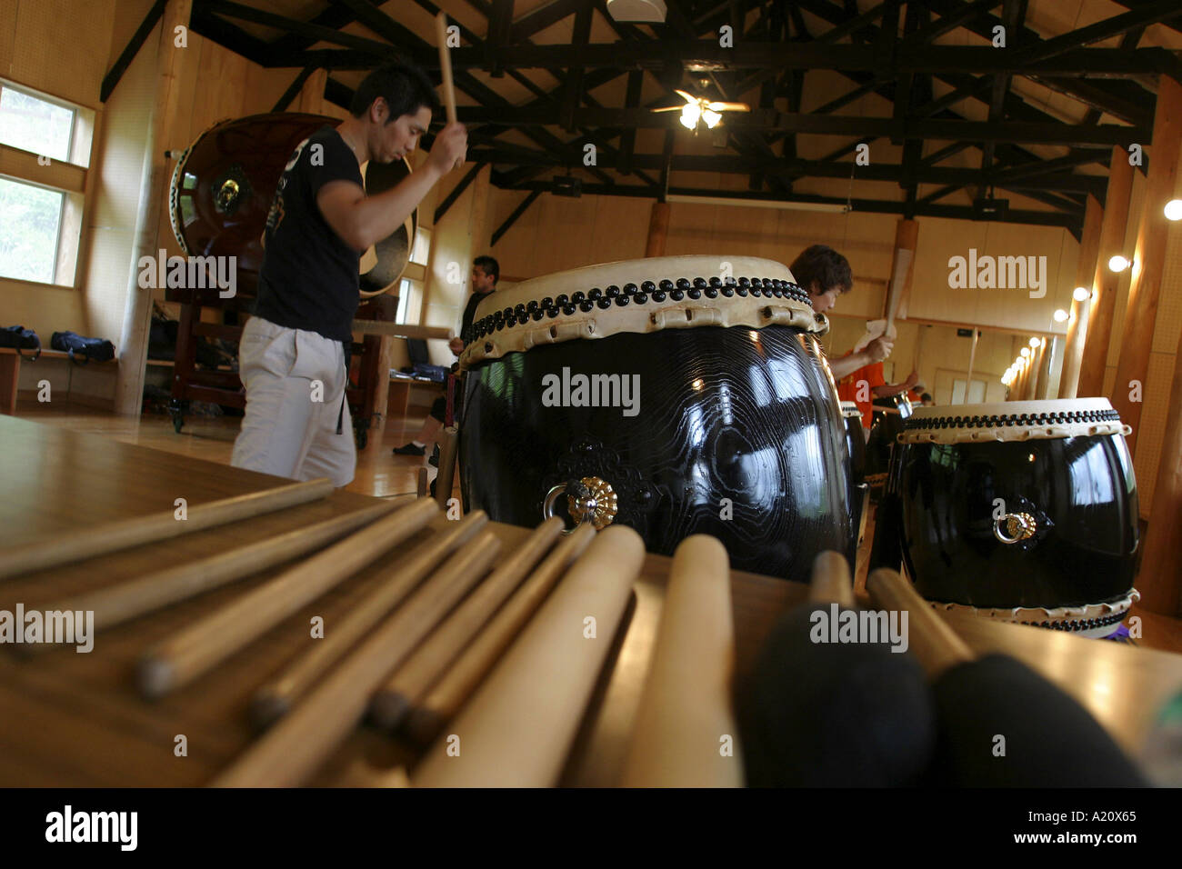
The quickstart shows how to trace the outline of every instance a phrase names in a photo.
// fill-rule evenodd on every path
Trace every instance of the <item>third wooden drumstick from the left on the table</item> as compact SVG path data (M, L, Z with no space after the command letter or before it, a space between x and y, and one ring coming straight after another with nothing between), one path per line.
M177 688L337 583L394 549L439 514L430 499L416 499L368 528L350 534L149 650L139 662L139 688L161 696Z

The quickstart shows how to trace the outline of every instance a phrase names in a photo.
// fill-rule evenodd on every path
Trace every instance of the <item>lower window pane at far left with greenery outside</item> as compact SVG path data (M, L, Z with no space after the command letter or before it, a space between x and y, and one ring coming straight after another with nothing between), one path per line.
M0 278L53 284L65 194L0 177Z

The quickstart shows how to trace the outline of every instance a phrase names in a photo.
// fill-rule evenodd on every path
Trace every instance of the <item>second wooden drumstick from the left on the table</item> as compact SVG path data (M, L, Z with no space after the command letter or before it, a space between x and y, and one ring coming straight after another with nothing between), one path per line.
M356 531L396 510L396 501L382 501L345 515L268 537L238 549L219 552L176 568L131 579L106 589L46 605L46 610L95 612L95 630L105 630L130 618L196 597L260 570L290 562ZM47 644L28 648L52 648Z

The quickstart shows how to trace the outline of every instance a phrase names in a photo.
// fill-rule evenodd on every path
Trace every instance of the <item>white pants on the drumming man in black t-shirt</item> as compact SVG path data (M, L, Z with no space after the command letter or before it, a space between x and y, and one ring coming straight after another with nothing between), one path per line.
M252 317L238 350L246 416L234 442L235 468L348 486L357 468L348 375L338 341ZM340 434L337 420L340 415Z

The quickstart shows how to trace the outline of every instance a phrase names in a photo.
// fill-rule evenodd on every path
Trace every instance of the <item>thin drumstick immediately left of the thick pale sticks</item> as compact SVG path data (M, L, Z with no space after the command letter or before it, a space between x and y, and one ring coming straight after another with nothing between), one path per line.
M558 544L517 594L496 612L488 627L476 635L472 646L447 668L443 677L431 687L421 703L417 699L434 681L436 674L418 673L417 666L421 664L418 661L415 662L415 670L408 667L408 672L401 674L398 690L413 703L404 725L408 737L420 745L427 745L439 735L440 728L460 711L480 685L480 680L493 668L501 653L508 648L541 605L566 568L583 555L595 536L595 526L583 524ZM392 682L389 687L392 687Z

